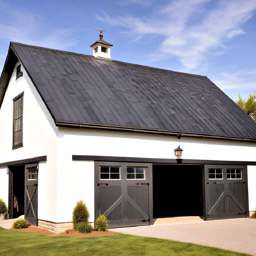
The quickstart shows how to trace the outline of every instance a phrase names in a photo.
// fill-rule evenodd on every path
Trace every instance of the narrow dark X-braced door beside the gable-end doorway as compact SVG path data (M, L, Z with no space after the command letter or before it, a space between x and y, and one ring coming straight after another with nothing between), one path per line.
M25 219L37 225L38 164L25 165Z

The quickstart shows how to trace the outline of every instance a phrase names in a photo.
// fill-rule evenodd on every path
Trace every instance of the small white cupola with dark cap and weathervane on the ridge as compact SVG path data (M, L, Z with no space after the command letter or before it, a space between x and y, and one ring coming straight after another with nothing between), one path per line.
M110 48L113 46L113 44L110 44L105 40L103 40L102 32L105 30L102 30L102 29L98 30L96 28L95 30L100 31L100 39L90 46L92 48L92 54L94 55L95 58L103 57L103 58L111 59Z

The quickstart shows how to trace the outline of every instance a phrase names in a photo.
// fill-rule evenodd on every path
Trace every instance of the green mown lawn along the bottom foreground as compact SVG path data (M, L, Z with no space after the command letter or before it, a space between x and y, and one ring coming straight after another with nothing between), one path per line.
M1 256L245 256L238 252L133 235L48 236L0 228Z

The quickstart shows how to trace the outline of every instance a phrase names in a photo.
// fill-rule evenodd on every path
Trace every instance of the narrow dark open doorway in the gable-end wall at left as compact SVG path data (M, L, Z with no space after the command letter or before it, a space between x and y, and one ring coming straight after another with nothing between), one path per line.
M12 176L12 189L10 194L11 210L10 218L18 218L24 215L24 197L25 197L25 165L9 167Z

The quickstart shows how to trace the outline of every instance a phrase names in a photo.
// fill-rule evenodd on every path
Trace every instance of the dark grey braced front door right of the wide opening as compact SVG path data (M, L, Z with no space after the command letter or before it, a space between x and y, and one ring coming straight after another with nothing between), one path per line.
M248 212L246 166L205 165L206 219L242 218Z

